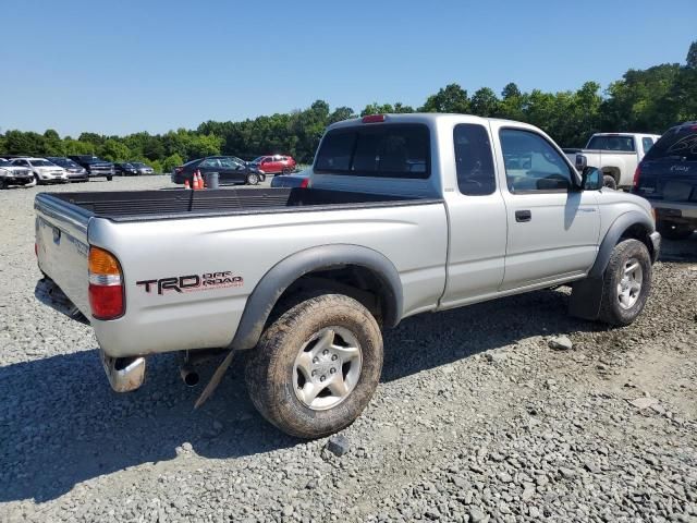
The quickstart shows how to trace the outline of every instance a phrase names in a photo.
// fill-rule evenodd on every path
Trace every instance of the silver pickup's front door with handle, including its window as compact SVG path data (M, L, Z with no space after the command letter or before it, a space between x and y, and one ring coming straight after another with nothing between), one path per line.
M543 135L496 125L509 224L501 290L587 272L598 251L597 194L576 187L574 168Z

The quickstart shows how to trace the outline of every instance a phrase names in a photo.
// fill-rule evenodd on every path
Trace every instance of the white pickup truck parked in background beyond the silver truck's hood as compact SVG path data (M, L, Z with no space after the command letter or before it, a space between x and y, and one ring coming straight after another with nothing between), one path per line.
M639 161L660 138L659 134L596 133L584 149L564 149L574 162L577 155L586 157L586 165L602 172L602 183L610 188L629 188Z

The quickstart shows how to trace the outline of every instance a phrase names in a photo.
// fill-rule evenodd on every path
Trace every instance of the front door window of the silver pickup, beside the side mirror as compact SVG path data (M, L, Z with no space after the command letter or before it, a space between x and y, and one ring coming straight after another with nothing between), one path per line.
M547 139L521 129L499 133L509 191L568 191L571 168Z

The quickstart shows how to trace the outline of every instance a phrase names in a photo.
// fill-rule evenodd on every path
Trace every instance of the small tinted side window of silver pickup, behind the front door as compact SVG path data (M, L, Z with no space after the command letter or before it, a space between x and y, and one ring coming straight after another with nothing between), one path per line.
M460 192L467 196L493 193L497 182L487 130L475 123L457 124L453 142Z

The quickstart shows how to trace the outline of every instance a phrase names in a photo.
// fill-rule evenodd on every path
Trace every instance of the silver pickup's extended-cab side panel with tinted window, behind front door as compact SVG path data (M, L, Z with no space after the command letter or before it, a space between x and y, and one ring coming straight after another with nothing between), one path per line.
M493 294L503 280L506 212L497 184L491 134L480 123L460 123L452 130L452 150L441 151L443 179L456 173L457 187L444 187L450 250L443 308Z

